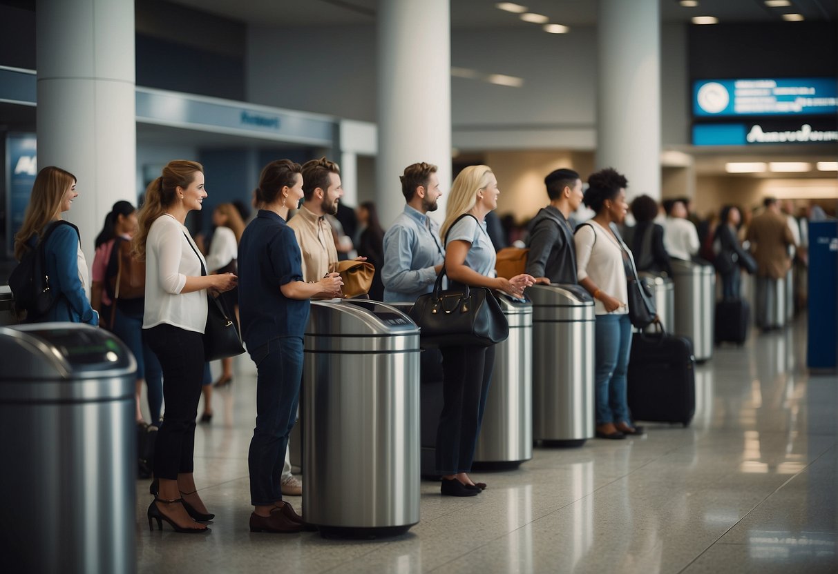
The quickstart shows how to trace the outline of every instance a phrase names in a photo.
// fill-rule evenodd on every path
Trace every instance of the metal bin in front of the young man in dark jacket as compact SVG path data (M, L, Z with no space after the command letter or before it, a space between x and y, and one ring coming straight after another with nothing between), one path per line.
M594 431L593 299L579 285L533 285L533 438L582 446Z

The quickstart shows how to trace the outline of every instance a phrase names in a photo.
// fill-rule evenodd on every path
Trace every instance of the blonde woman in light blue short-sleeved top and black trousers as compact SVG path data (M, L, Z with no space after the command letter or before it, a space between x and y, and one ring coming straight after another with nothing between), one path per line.
M448 194L440 235L445 243L449 287L466 284L499 290L520 298L535 284L528 274L496 277L494 246L486 214L498 207L498 180L488 166L470 166L457 176ZM442 495L473 496L486 488L468 478L494 366L494 346L442 348L442 413L437 428L437 472Z

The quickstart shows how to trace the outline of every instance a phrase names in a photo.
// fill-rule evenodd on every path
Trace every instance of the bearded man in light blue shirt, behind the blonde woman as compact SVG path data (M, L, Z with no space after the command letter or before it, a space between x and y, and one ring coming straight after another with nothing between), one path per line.
M437 167L414 163L400 177L401 192L407 204L384 235L385 302L414 302L430 293L445 261L439 239L439 223L427 216L437 210L439 191Z

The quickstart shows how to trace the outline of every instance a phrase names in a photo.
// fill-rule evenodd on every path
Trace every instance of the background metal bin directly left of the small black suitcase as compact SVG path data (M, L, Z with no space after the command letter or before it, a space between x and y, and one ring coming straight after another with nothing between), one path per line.
M675 281L676 335L692 342L696 361L713 356L713 323L716 318L716 269L712 265L672 259Z

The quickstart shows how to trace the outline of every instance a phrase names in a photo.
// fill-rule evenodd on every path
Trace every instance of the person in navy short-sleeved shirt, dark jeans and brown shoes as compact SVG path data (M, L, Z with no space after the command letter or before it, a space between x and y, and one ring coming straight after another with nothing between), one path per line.
M329 273L303 281L302 254L288 209L303 198L303 168L272 161L261 172L256 198L261 208L239 244L241 333L256 363L256 428L248 466L251 532L303 530L303 519L282 500L282 466L288 435L297 418L303 377L303 332L309 300L340 297L343 282Z

